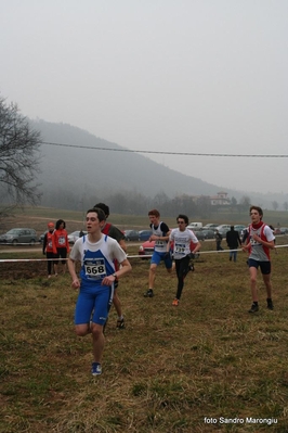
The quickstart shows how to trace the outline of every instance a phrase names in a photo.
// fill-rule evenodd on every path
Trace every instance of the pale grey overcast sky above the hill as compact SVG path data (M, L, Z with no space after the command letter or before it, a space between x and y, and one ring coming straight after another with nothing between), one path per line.
M0 92L24 115L138 151L288 154L287 0L0 7ZM146 156L223 189L288 193L287 157Z

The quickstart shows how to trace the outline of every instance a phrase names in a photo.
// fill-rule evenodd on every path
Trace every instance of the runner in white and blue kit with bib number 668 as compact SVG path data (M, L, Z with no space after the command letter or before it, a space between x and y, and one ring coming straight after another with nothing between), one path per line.
M73 288L79 289L75 309L75 330L79 336L92 333L94 359L91 373L99 375L102 373L105 344L103 327L108 318L114 284L131 270L131 265L118 242L101 232L105 224L102 209L89 209L86 220L88 234L75 242L68 259L68 269ZM121 269L117 271L114 266L115 259L121 265ZM81 263L81 283L76 275L76 262Z

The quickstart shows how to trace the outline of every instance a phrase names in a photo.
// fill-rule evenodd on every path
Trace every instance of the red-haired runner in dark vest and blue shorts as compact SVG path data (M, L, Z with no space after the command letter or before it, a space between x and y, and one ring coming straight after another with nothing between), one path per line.
M148 290L144 293L145 297L154 296L154 283L156 277L156 268L161 260L165 262L165 266L168 272L172 271L172 258L170 253L167 252L167 244L169 241L170 230L167 224L160 221L160 213L157 209L148 212L150 220L152 235L149 241L155 241L154 252L150 259Z

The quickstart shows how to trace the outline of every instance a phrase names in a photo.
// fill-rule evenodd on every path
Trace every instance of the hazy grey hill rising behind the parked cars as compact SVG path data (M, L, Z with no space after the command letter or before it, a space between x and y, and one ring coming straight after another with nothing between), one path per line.
M182 175L75 126L39 119L30 122L44 142L38 177L44 205L81 209L83 203L103 201L115 192L148 198L165 193L171 199L183 193L213 195L223 190L223 187ZM236 200L247 194L228 188L225 191ZM248 195L264 207L271 207L272 200L276 200L263 194Z

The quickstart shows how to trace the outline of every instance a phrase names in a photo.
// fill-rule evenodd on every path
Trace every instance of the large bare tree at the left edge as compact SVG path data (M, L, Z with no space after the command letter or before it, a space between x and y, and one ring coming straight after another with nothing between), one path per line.
M40 199L35 182L39 171L40 132L31 129L16 104L0 97L0 215L13 206L37 204Z

